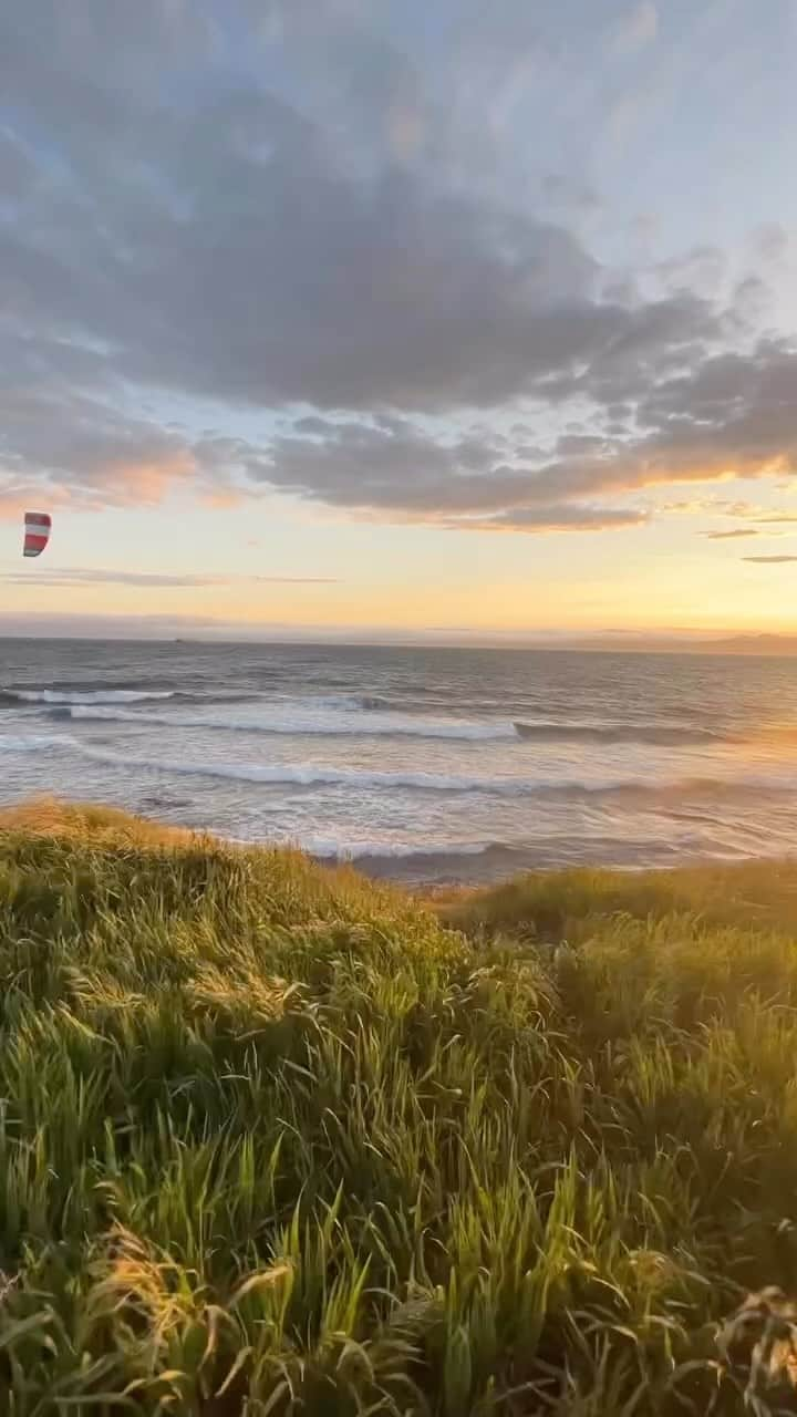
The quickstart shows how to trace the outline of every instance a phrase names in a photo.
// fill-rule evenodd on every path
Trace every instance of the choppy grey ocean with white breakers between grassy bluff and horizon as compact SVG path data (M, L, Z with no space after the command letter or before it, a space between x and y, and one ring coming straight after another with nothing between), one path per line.
M797 842L797 660L0 640L0 801L95 801L373 876Z

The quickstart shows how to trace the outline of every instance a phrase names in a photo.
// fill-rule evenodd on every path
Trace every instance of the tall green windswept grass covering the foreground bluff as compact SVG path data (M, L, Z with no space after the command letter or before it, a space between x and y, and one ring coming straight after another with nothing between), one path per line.
M433 913L6 815L0 1411L783 1410L716 1335L797 1292L796 934L790 866Z

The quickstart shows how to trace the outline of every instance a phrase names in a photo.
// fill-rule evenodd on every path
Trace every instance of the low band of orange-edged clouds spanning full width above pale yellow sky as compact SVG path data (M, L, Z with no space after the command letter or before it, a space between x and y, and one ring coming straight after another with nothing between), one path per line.
M172 486L190 483L217 497L224 489L269 487L363 514L445 524L459 517L469 530L486 523L576 530L601 519L632 526L644 520L638 512L596 512L594 499L788 473L797 465L796 391L797 351L763 340L747 354L708 356L691 374L654 381L623 438L596 428L529 445L522 432L512 438L474 425L452 436L434 422L387 412L305 415L262 442L191 439L99 398L69 397L57 381L11 387L0 395L7 468L0 507L17 514L34 492L38 499L40 478L55 502L69 495L87 506L155 504ZM583 514L563 519L560 509L570 503ZM547 517L545 507L553 509ZM750 517L750 510L742 503L726 514ZM790 517L760 509L754 520Z

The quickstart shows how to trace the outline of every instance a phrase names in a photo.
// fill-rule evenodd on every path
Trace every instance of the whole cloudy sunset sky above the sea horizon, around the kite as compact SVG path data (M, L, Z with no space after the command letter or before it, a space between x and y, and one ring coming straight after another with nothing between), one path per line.
M0 633L797 631L796 61L794 0L0 7Z

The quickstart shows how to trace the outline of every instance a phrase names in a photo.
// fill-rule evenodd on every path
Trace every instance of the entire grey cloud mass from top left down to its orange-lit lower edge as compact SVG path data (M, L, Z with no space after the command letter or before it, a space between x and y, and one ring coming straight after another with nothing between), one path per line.
M728 353L750 290L695 293L722 254L662 264L647 299L547 208L499 200L481 167L468 181L445 57L430 85L380 17L359 0L0 11L0 507L152 504L180 483L593 530L645 521L613 499L657 483L791 469L797 353ZM652 40L654 6L624 33ZM482 96L518 51L503 118L550 61L512 0L457 51ZM194 424L221 431L174 427L174 397L213 401ZM518 401L545 435L491 431ZM237 436L241 410L288 427Z

